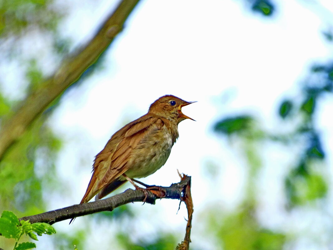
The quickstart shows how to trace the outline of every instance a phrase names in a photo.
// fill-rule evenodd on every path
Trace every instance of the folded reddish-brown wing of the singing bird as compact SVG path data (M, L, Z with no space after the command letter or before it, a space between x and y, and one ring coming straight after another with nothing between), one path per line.
M162 126L163 122L159 118L147 116L129 123L116 132L105 148L96 155L94 172L81 203L88 202L106 185L125 173L129 168L127 163L132 150L142 138L156 129L161 129Z

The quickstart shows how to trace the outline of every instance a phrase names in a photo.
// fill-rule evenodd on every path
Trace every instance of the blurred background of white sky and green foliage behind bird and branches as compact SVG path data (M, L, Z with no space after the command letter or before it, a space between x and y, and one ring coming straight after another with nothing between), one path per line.
M0 1L1 122L118 1ZM192 176L193 250L333 248L333 2L145 0L81 78L0 162L0 211L80 202L94 156L165 94L198 101L164 167ZM122 192L130 185L123 186ZM54 224L37 249L175 249L178 201L129 204ZM23 240L29 240L25 238ZM13 241L0 237L0 247Z

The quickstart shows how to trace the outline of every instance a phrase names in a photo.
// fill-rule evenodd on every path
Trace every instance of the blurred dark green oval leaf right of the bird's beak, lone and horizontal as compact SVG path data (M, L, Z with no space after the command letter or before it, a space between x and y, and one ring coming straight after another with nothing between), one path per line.
M228 117L221 121L219 121L214 130L216 132L220 132L226 135L230 135L232 133L241 132L249 129L250 122L252 121L252 117L247 115L241 115L236 117Z

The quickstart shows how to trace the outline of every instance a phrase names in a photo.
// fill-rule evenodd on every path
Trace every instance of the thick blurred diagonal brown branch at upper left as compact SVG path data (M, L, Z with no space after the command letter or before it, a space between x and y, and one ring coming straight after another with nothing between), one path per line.
M0 131L0 159L38 115L97 61L116 35L122 31L124 22L138 2L139 0L123 0L95 37L80 52L69 55L53 76L18 105L16 113L4 122Z

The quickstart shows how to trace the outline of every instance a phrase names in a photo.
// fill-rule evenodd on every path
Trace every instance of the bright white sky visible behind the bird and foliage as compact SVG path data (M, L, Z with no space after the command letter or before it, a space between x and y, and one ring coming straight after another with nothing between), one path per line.
M71 6L60 30L72 39L73 48L93 34L115 5L109 2L59 1ZM239 160L239 152L212 134L214 122L226 114L249 112L265 128L278 127L275 116L281 99L297 97L299 83L313 62L332 58L332 44L321 35L332 18L328 14L322 16L320 6L332 12L333 1L318 1L321 5L295 0L275 2L276 15L266 19L247 10L243 1L141 2L107 51L103 70L70 90L50 120L55 132L65 138L57 167L71 190L61 199L51 201L49 209L78 203L90 180L94 156L111 135L145 114L160 96L173 94L186 101L198 101L183 108L196 122L186 120L179 124L180 137L166 165L142 181L168 186L179 181L176 169L192 176L192 246L200 247L207 237L200 226L205 207L214 203L221 209L234 208L244 194L246 178L246 163ZM332 150L333 122L329 117L333 102L331 96L326 99L319 105L318 120L325 134L324 145ZM286 149L272 146L265 148L264 155L258 216L272 229L285 226L287 230L298 230L293 225L299 224L304 214L285 214L281 206L283 177L294 156ZM327 161L332 163L332 159ZM215 180L204 176L207 163L218 166ZM133 204L133 211L143 216L133 228L134 235L145 237L158 227L178 232L182 238L186 211L182 206L176 214L177 207L178 201L171 200L157 201L155 206ZM147 216L151 218L148 222L144 221ZM70 231L84 226L83 223L83 219L77 218L72 226L65 221L55 227ZM315 222L307 223L304 228ZM104 234L112 235L118 227L116 223L105 225L103 235L94 234L91 244L103 247ZM37 249L47 244L47 238L43 238ZM108 241L104 244L107 246ZM291 249L302 249L306 244L306 240L300 239ZM214 242L211 249L218 249Z

